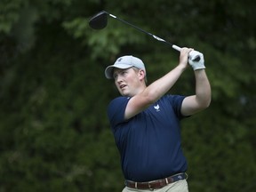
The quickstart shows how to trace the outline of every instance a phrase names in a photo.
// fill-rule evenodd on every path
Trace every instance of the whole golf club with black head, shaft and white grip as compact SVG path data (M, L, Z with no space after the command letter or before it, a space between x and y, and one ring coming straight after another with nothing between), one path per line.
M94 16L92 16L92 18L89 20L89 26L91 28L94 28L94 29L102 29L102 28L106 28L107 25L108 25L108 16L116 19L116 20L119 20L121 22L123 22L124 24L127 24L129 26L131 26L132 28L136 28L137 30L139 30L140 32L142 33L145 33L147 34L148 36L152 36L153 38L155 38L157 41L160 41L160 42L163 42L165 44L168 44L168 45L171 45L172 48L174 50L177 50L178 52L180 52L181 48L175 44L171 44L167 41L165 41L163 38L160 38L158 36L155 36L151 33L148 33L147 31L141 29L141 28L138 28L137 26L134 26L132 25L131 23L125 21L125 20L122 20L120 18L117 18L115 15L113 14L110 14L108 12L105 12L105 11L101 11L101 12L98 12L97 14L95 14ZM194 59L194 61L199 61L200 60L200 57L196 57L196 59Z

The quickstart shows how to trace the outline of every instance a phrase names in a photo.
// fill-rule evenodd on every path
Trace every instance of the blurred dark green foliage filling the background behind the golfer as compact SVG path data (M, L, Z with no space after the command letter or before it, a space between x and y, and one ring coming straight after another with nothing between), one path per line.
M149 84L179 52L101 10L204 52L211 107L182 122L191 191L255 190L256 24L253 1L9 0L0 3L0 191L121 191L106 108L118 95L104 69L124 54ZM171 93L195 91L191 68Z

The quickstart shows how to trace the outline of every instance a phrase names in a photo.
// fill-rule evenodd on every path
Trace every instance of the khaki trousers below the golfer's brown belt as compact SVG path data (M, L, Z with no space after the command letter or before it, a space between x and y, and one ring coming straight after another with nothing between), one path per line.
M187 180L178 180L176 182L170 183L164 188L157 188L154 190L150 189L136 189L136 188L127 188L125 187L122 192L188 192L188 182Z

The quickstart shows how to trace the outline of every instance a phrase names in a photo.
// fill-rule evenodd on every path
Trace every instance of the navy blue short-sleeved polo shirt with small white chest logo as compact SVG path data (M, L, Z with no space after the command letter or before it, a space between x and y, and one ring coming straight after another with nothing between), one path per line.
M165 95L126 121L124 110L130 98L118 97L109 103L108 119L126 180L158 180L187 171L180 139L180 107L184 98Z

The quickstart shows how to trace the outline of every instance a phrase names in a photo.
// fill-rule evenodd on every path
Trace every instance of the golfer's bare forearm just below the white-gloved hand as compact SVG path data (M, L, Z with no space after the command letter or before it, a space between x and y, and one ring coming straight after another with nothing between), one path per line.
M196 70L196 101L202 108L211 103L211 85L204 69Z

